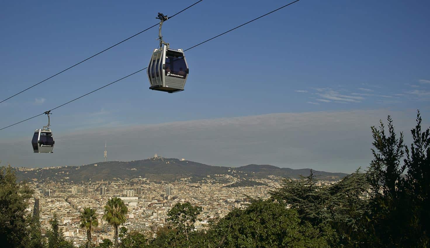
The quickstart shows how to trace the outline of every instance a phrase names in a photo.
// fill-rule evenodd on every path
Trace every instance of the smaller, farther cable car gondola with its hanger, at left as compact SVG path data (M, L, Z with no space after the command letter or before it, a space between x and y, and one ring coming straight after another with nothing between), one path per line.
M54 149L55 140L51 129L49 129L49 126L51 126L50 114L50 111L45 112L45 115L48 115L48 125L34 131L33 140L31 140L34 153L52 153L52 149Z

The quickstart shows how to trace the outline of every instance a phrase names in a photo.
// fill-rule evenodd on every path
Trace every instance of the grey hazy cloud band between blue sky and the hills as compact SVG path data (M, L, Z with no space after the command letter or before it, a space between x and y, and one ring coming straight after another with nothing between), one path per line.
M10 139L0 141L0 158L3 165L13 167L92 164L103 161L107 141L108 161L141 160L157 153L215 166L270 164L351 173L369 165L370 126L378 125L387 115L408 144L415 112L379 109L273 113L73 132L53 129L54 153L33 154L29 139ZM423 124L427 123L425 118Z

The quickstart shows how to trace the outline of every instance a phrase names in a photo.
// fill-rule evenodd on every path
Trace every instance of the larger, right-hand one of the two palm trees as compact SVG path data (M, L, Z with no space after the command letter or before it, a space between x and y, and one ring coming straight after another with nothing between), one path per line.
M126 222L127 207L123 200L117 197L112 197L104 206L103 219L115 228L115 247L118 247L118 226Z

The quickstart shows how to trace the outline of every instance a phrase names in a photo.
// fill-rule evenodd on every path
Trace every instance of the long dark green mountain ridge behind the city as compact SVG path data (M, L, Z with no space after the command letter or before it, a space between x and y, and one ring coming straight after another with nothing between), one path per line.
M82 166L65 166L49 169L17 168L18 180L52 181L100 181L124 180L146 177L154 181L175 181L190 178L200 181L207 176L228 174L240 179L266 178L268 176L298 178L308 176L310 169L280 168L269 164L249 164L241 167L223 167L202 164L177 158L149 158L135 161L107 161ZM320 180L339 180L347 176L344 173L314 171Z

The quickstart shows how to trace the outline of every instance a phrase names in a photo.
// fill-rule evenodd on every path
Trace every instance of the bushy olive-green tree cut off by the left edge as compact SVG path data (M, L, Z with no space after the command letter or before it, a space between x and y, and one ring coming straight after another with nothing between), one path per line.
M3 247L28 245L26 208L32 193L26 184L16 183L10 165L0 167L0 241Z

